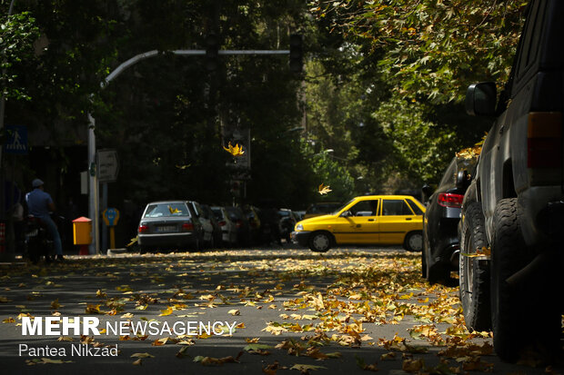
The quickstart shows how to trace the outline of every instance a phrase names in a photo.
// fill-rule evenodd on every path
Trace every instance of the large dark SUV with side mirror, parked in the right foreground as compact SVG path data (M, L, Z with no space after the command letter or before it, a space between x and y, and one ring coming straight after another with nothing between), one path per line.
M533 0L509 82L468 87L467 112L496 116L459 225L469 329L493 329L503 360L559 355L564 270L564 2ZM559 297L560 296L560 297Z

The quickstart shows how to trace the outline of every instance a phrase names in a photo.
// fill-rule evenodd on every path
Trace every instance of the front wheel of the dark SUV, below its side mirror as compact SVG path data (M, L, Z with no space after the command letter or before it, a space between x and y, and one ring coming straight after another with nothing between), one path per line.
M486 226L480 203L473 202L464 215L460 236L458 276L460 301L468 330L488 331L491 328L489 301L489 261L475 257L487 246Z

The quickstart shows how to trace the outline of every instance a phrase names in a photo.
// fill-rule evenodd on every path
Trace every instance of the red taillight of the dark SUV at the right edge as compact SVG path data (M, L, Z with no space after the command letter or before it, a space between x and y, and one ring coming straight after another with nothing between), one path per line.
M562 113L529 113L527 166L558 168L560 165L562 165Z

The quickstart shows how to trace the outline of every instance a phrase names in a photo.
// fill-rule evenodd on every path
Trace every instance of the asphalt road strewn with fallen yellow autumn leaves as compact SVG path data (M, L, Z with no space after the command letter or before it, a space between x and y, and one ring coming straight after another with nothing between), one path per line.
M488 332L464 331L458 289L422 282L418 256L277 248L4 263L0 372L546 373L534 359L500 362ZM46 335L45 317L71 319L69 331L55 321ZM86 317L98 331L81 337Z

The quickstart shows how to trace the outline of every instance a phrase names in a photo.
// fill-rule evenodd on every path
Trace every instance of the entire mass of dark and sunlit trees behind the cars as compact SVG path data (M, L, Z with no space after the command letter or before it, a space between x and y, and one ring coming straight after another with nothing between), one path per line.
M68 145L94 113L97 147L116 148L122 162L116 202L304 207L436 181L487 126L469 123L459 104L468 83L507 77L524 3L312 4L317 18L299 0L16 2L0 27L6 123ZM222 55L207 73L203 58L166 52L203 49L212 31L231 50L287 49L302 32L306 74L291 74L287 56ZM100 87L151 50L162 54ZM222 148L234 128L251 134L246 197L229 190L241 177ZM320 183L333 192L319 196Z

